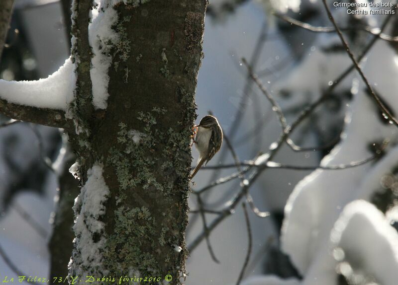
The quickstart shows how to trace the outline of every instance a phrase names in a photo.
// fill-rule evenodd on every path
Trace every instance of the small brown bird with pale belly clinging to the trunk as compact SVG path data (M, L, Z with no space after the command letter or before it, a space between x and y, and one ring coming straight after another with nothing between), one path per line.
M194 130L196 130L194 143L199 151L199 160L198 165L190 175L190 179L194 178L203 163L206 165L213 158L222 144L222 129L216 117L204 116L199 125L194 127Z

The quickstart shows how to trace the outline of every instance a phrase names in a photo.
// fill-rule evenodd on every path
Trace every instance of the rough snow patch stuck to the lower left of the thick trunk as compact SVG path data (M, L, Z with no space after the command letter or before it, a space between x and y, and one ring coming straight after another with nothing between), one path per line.
M81 194L76 198L74 210L77 215L73 229L76 250L80 251L79 261L71 259L69 267L74 267L78 275L85 274L87 269L95 269L101 263L101 248L106 239L100 234L100 240L95 242L93 235L102 233L104 223L100 217L105 214L103 205L109 196L109 188L102 176L102 165L95 164L88 171L88 179L82 187ZM89 270L90 271L90 270ZM87 272L89 274L89 272ZM91 275L93 272L90 272Z

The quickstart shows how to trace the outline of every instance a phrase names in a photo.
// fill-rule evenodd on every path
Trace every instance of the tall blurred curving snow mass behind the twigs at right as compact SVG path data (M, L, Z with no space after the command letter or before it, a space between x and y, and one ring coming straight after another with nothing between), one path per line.
M386 43L378 42L363 68L371 84L378 86L384 100L397 113L398 106L394 103L398 82L391 78L398 75L398 70L389 60L394 55L395 52ZM375 66L383 66L386 73L372 68ZM385 139L394 144L397 129L382 123L378 112L360 81L357 94L354 94L354 100L348 107L342 140L323 158L321 165L348 164L370 157L369 145ZM380 188L374 187L380 185L382 176L391 172L398 151L396 148L385 151L388 155L373 164L339 171L315 170L294 189L285 207L281 241L283 250L304 276L306 285L334 284L336 261L330 254L330 232L348 203L357 199L369 200L370 195ZM374 243L368 243L369 240L364 242L367 247L374 247Z

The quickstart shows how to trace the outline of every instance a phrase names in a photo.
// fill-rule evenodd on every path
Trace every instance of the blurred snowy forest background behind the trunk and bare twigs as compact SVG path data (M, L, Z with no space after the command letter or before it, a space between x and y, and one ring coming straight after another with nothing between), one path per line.
M212 0L209 6L196 100L199 119L208 111L217 116L245 161L259 151L267 152L281 129L270 103L247 79L243 57L253 61L254 71L281 105L288 123L326 92L351 61L335 33L309 32L271 14L276 9L330 27L321 1L248 0L233 12L225 8L225 3L234 2ZM343 27L355 22L376 28L385 19L349 17L344 8L332 11ZM1 59L1 78L32 80L58 70L69 54L63 23L59 2L17 0L10 47ZM397 32L394 23L397 26L396 17L386 34ZM373 38L366 32L345 36L355 54ZM398 112L397 46L378 40L361 62L393 113ZM233 124L236 116L241 119ZM249 212L253 253L244 285L396 284L397 129L383 119L355 71L334 88L330 99L300 125L292 139L304 147L328 147L296 152L285 145L274 161L328 167L360 161L378 151L382 154L378 160L344 170L267 169L250 193L260 211L271 216L260 218ZM55 161L60 148L57 129L25 123L0 129L0 249L26 276L48 276L47 242L58 186L43 156ZM223 148L209 165L233 163L225 144ZM193 154L196 161L197 152ZM224 169L216 175L213 170L199 171L193 189L234 171ZM239 182L233 180L202 198L207 209L218 210L239 190ZM198 209L192 198L191 208ZM214 216L206 214L206 218L211 222ZM202 230L199 214L190 214L188 244ZM201 242L188 259L187 285L235 284L248 246L241 207L211 232L210 241L220 263L212 261ZM4 276L15 274L0 258L0 280Z

